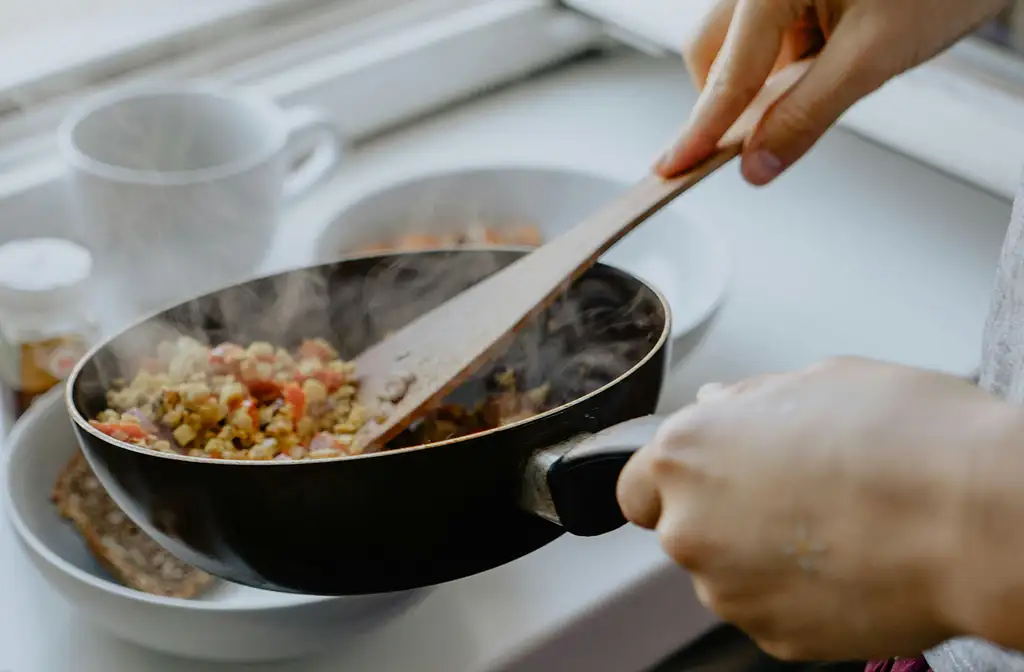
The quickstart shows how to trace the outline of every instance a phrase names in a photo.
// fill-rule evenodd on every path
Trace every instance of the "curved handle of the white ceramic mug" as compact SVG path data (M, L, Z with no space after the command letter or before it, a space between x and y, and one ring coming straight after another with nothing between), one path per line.
M297 199L318 186L341 162L344 136L331 117L314 108L293 108L288 119L289 165L311 152L309 158L285 178L285 199Z

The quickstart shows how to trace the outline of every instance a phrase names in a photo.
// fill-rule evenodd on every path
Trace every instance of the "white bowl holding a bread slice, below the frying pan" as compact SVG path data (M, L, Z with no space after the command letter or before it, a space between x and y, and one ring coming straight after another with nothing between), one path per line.
M184 658L280 661L358 636L426 594L322 597L220 582L204 597L185 600L126 588L99 566L49 500L57 473L77 450L62 390L53 390L15 423L4 443L3 506L22 547L50 586L116 637Z

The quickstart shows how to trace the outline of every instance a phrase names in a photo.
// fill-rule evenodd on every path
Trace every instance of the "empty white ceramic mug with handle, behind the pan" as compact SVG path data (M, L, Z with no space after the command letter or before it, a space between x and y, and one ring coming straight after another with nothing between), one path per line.
M206 83L100 94L57 140L102 291L131 317L256 275L342 146L319 111Z

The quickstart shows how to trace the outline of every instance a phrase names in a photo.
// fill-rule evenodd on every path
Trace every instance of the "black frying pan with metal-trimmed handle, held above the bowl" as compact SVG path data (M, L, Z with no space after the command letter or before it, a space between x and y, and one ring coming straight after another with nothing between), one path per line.
M507 368L521 388L551 384L549 410L501 429L340 460L230 462L139 449L87 422L104 408L112 379L131 375L171 329L212 343L294 346L319 336L352 356L522 254L354 258L162 312L95 348L72 374L67 398L79 442L146 533L210 574L258 588L337 595L417 588L499 566L566 531L615 530L625 523L615 481L656 425L644 416L662 390L671 325L655 290L602 264L453 394L478 401Z

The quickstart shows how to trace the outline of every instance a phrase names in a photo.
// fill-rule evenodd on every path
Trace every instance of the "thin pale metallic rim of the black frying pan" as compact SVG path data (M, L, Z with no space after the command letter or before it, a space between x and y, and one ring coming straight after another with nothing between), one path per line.
M281 275L287 274L287 272L294 272L296 270L318 268L318 267L322 267L322 266L333 265L333 264L337 264L337 263L344 262L344 261L357 261L359 259L369 259L369 258L373 258L373 257L414 255L414 254L425 254L425 253L432 253L432 252L462 252L462 251L467 251L467 252L480 252L480 251L489 251L489 252L524 252L525 251L525 252L528 252L530 249L531 248L529 248L529 247L518 246L518 245L501 245L501 246L494 246L494 245L473 245L473 246L459 246L459 247L439 246L439 247L434 247L434 248L429 248L429 249L423 249L423 250L415 250L415 251L391 251L391 252L374 252L374 253L368 253L368 254L347 254L347 255L341 255L341 256L337 257L333 261L316 262L316 263L313 263L313 264L310 264L310 265L299 265L299 266L294 266L294 267L290 267L290 268L275 270L273 272L268 272L268 274L259 275L259 276L253 276L253 277L251 277L251 278L249 278L247 280L243 280L241 282L234 283L233 285L230 285L229 287L236 287L238 285L245 285L247 283L257 282L257 281L260 281L260 280L265 280L265 279L268 279L268 278L272 278L274 276L281 276ZM162 453L162 452L150 449L150 448L144 448L144 447L141 447L141 446L135 446L134 444L129 444L127 442L123 442L123 440L114 438L113 436L104 434L103 432L99 431L98 429L96 429L95 427L93 427L92 425L90 425L89 422L88 422L88 420L86 420L85 417L82 415L82 413L79 411L78 404L75 403L74 394L73 394L73 392L75 390L75 387L76 387L76 384L78 382L79 374L82 372L82 370L85 368L85 366L89 362L91 362L92 359L100 350L102 350L104 347L106 347L108 345L110 345L114 340L116 340L117 338L119 338L123 334L128 333L132 329L135 329L136 327L139 327L139 326L145 324L146 322L153 320L154 318L156 318L157 316L161 314L162 312L164 312L166 310L169 310L169 309L171 309L173 307L176 307L178 305L182 305L184 303L188 303L190 301L197 300L197 299L202 298L203 296L206 296L208 294L214 294L214 293L222 291L224 289L228 289L227 287L221 288L219 290L214 290L213 292L206 292L204 294L199 294L199 295L197 295L197 296L195 296L195 297L193 297L190 299L186 299L184 301L179 301L179 302L175 303L173 306L169 306L169 307L164 308L162 310L157 310L155 312L151 312L148 314L145 314L142 318L139 318L138 320L132 322L128 326L119 329L117 333L115 333L112 336L109 336L109 337L104 338L102 341L100 341L99 343L97 343L96 345L94 345L93 347L91 347L88 350L88 352L86 352L86 354L81 360L79 360L78 364L75 365L75 368L72 370L71 375L68 376L68 381L67 381L67 383L65 385L65 390L63 390L65 406L68 409L68 415L71 417L72 422L74 422L75 425L78 428L82 429L83 431L85 431L85 432L87 432L89 434L92 434L93 436L95 436L97 439L103 442L104 444L109 444L111 446L115 446L115 447L123 449L123 450L131 451L133 453L138 453L140 455L144 455L146 457L153 457L153 458L157 458L157 459L164 459L164 460L170 460L170 461L180 461L180 462L191 462L191 463L196 463L196 464L211 464L211 465L219 465L219 466L238 466L238 467L254 467L254 468L268 468L268 467L295 468L295 467L307 466L307 465L333 464L333 463L338 463L338 462L349 462L349 461L352 461L352 460L370 460L370 459L374 459L374 458L384 458L384 457L389 457L389 456L404 455L404 454L408 454L408 453L418 452L418 451L422 451L422 450L426 450L426 449L440 448L440 447L443 447L443 446L452 446L452 445L455 445L455 444L461 444L461 443L466 442L466 440L468 440L470 438L478 438L478 437L488 436L488 435L494 434L494 433L499 432L499 431L504 431L504 430L507 430L507 429L512 429L514 427L521 427L523 425L526 425L526 424L529 424L529 423L532 423L532 422L540 422L544 418L548 418L548 417L554 416L556 414L562 413L562 412L564 412L564 411L566 411L568 409L571 409L571 408L573 408L573 407L575 407L575 406L578 406L578 405L586 402L587 400L593 398L594 396L597 396L598 394L604 392L605 390L610 389L611 387L615 386L620 382L622 382L622 381L626 380L627 378L629 378L630 376L632 376L634 373L636 373L642 367L644 367L650 360L652 360L658 352L663 351L666 348L666 344L668 343L668 341L669 341L669 339L670 339L670 337L672 335L672 308L669 305L669 302L666 299L665 295L662 293L662 291L657 287L655 287L653 284L648 283L647 281L643 280L642 278L639 278L639 277L633 275L632 272L630 272L630 271L628 271L628 270L626 270L624 268L620 268L618 266L615 266L615 265L612 265L612 264L609 264L609 263L602 263L600 261L598 261L594 265L595 266L604 266L604 267L609 268L609 269L611 269L611 270L613 270L613 271L615 271L617 274L626 276L627 278L632 279L634 282L636 282L639 285L641 285L642 287L646 288L649 292L651 292L654 295L654 297L657 299L657 302L662 306L663 312L665 313L665 323L662 326L662 331L660 331L660 334L658 334L657 340L653 343L653 345L650 346L650 348L647 350L647 352L642 358L640 358L640 360L638 360L636 363L634 363L633 366L631 366L629 369L627 369L626 371L624 371L622 374L620 374L618 376L616 376L613 380L605 383L604 385L601 385L600 387L598 387L596 389L591 390L590 392L587 392L586 394L584 394L582 396L578 396L577 398L572 400L571 402L568 402L566 404L562 404L562 405L557 406L557 407L555 407L553 409L549 409L549 410L547 410L547 411L545 411L543 413L539 413L539 414L537 414L535 416L530 416L530 417L524 418L522 420L517 420L517 421L515 421L513 423L510 423L510 424L507 424L507 425L502 425L501 427L493 427L490 429L485 429L483 431L479 431L479 432L476 432L476 433L473 433L473 434L467 434L465 436L457 436L455 438L446 438L446 439L440 440L440 442L433 442L433 443L430 443L430 444L422 444L420 446L410 446L410 447L407 447L407 448L398 448L398 449L393 449L393 450L390 450L390 451L377 451L375 453L361 453L359 455L348 455L348 456L345 456L345 457L328 457L328 458L315 458L315 459L306 459L306 460L278 461L278 460L223 460L223 459L217 459L217 458L212 458L212 457L193 457L190 455L177 455L177 454L172 454L172 453Z

